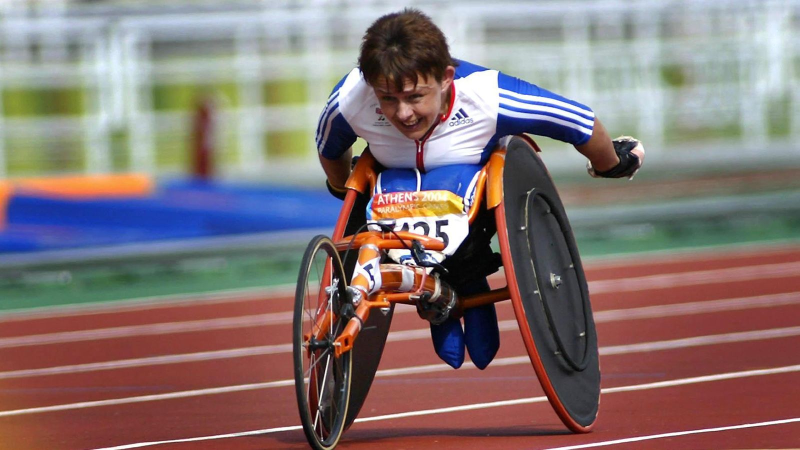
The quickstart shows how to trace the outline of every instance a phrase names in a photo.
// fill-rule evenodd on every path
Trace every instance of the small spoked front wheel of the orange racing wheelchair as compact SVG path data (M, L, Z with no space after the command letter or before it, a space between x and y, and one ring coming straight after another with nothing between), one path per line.
M340 311L348 301L342 259L324 235L311 239L303 255L294 295L294 388L303 431L311 447L338 444L350 403L352 352L338 358L334 340L347 320Z

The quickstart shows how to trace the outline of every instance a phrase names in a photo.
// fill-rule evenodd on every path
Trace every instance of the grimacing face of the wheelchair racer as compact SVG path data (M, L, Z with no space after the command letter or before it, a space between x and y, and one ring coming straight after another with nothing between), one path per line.
M454 67L448 66L442 82L432 76L419 75L416 85L410 79L404 80L402 90L381 77L373 89L386 119L406 138L422 139L426 131L447 114L454 74Z

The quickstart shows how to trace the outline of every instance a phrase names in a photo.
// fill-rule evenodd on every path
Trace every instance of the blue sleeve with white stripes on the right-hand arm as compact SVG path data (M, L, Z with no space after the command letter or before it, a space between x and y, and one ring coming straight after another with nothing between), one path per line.
M589 106L519 78L498 73L498 135L547 136L565 143L586 143L594 129Z

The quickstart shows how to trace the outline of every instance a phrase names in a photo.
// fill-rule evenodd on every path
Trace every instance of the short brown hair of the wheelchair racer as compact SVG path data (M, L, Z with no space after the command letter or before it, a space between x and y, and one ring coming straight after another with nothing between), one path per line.
M378 18L366 30L358 56L358 68L370 86L384 77L397 90L406 79L416 85L419 74L441 82L447 66L456 65L442 30L414 8Z

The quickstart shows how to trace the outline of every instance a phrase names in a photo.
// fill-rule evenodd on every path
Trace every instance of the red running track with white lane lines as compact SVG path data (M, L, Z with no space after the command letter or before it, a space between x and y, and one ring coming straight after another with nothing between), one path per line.
M800 447L800 247L586 271L603 388L593 432L570 434L542 398L510 303L485 371L442 364L406 307L341 447ZM306 448L286 294L0 315L0 448Z

